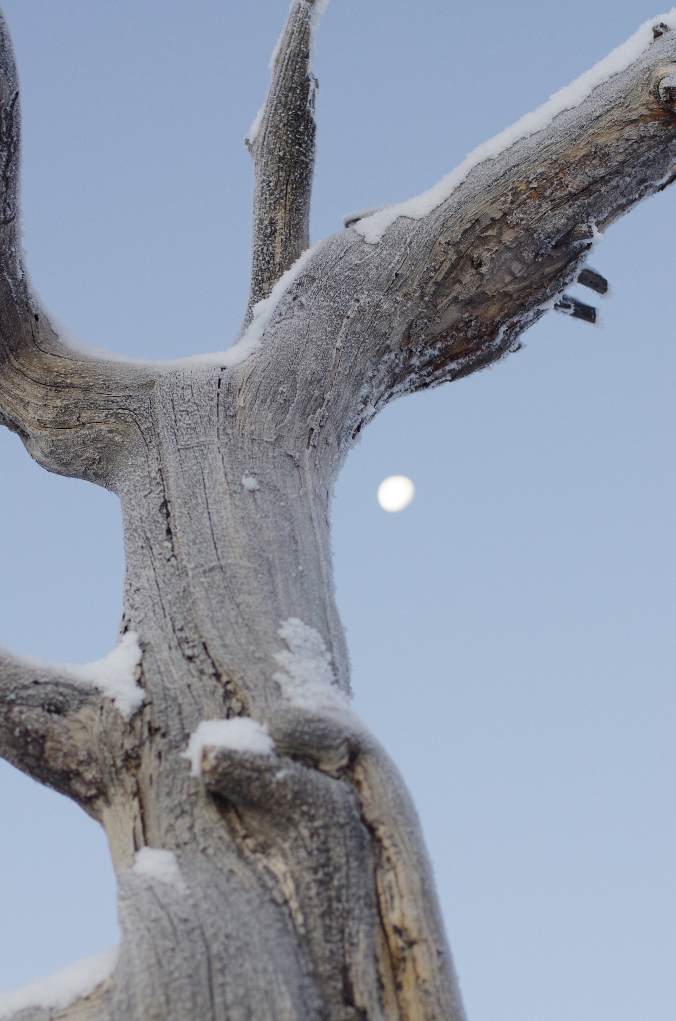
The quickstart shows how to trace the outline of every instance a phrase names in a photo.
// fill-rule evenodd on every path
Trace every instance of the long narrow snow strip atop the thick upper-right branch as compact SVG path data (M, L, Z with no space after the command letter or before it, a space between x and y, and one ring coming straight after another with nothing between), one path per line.
M410 220L422 220L423 216L427 216L453 194L456 188L466 180L470 171L479 163L487 159L495 159L496 156L522 138L528 138L535 132L547 128L559 113L579 106L597 86L608 82L609 79L625 70L634 60L637 60L654 42L653 26L661 21L669 29L676 29L676 7L672 7L668 14L659 14L648 21L644 21L626 43L618 46L570 85L555 92L537 109L526 113L516 124L477 146L459 166L447 174L428 191L405 202L385 206L379 212L360 220L359 223L355 224L354 230L357 234L361 234L368 244L377 244L387 228L399 216L408 216Z

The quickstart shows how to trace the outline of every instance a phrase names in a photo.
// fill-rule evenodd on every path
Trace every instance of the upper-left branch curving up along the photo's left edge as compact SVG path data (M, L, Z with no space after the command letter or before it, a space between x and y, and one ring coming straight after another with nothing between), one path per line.
M59 340L22 264L18 76L0 13L0 425L50 471L110 484L149 374Z

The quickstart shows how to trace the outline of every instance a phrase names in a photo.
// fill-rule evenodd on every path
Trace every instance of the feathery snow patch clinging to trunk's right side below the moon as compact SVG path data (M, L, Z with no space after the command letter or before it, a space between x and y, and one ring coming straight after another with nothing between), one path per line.
M273 674L272 679L289 701L315 712L349 710L348 699L335 683L331 654L319 632L298 617L290 617L282 621L277 634L288 650L275 652L283 673Z

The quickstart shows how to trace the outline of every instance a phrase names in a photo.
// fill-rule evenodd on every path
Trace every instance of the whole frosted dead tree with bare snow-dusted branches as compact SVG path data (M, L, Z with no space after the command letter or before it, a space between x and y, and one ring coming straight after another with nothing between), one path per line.
M0 655L0 753L103 825L122 928L108 979L22 1021L463 1018L415 811L345 699L331 490L393 398L502 358L548 308L592 318L565 288L676 176L676 32L656 25L426 204L303 255L317 13L292 5L249 139L240 344L157 367L74 351L31 291L1 22L0 422L48 471L118 494L120 637L143 652L125 703ZM203 721L227 723L193 737L191 769Z

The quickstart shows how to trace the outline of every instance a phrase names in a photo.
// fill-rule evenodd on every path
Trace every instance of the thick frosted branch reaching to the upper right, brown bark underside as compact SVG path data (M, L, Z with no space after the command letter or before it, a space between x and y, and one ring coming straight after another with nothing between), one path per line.
M333 445L340 466L388 400L516 350L600 232L676 177L675 65L665 32L429 211L402 212L379 240L363 236L368 220L329 238L276 305L250 376L257 401L299 395L289 449L319 464Z

